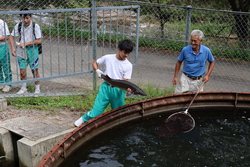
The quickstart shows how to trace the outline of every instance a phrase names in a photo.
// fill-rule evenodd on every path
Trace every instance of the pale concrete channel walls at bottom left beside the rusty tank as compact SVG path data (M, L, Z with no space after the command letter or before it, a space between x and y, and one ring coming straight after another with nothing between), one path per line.
M0 128L0 161L1 167L36 167L43 157L56 145L63 137L72 132L74 128L56 133L36 141L25 137L17 141L18 161L15 162L12 132Z

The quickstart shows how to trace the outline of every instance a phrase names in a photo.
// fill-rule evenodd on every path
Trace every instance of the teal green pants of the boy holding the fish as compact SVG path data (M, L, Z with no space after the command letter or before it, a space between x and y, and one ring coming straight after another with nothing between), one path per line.
M124 96L124 90L117 87L111 88L107 82L103 82L99 88L92 110L83 115L82 119L84 122L87 122L88 120L101 115L109 103L112 109L123 106Z

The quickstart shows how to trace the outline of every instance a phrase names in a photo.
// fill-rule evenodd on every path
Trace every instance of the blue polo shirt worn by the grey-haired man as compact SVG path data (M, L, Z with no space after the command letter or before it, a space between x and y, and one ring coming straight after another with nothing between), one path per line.
M192 77L203 75L206 72L206 61L214 61L212 52L204 45L200 45L198 54L194 53L191 45L185 46L177 59L184 61L183 72Z

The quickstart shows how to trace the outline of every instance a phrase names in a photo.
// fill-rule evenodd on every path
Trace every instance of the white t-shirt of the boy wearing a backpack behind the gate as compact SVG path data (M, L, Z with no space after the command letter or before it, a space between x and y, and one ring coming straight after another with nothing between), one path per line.
M15 25L14 30L11 32L11 36L14 36L14 37L20 36L20 34L18 32L18 24L19 23L17 23ZM35 34L36 34L36 39L41 39L42 38L41 29L40 29L40 26L38 24L35 24ZM24 37L25 37L25 40L24 40ZM20 43L24 43L24 41L25 42L32 42L34 40L35 40L35 36L34 36L34 33L33 33L33 23L32 23L32 21L30 22L30 25L28 27L25 27L24 23L22 23L22 26L21 26L21 41L20 41Z

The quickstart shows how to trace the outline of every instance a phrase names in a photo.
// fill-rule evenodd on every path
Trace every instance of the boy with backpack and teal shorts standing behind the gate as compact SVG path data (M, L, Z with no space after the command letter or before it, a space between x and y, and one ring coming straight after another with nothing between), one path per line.
M22 10L25 11L28 9ZM40 78L38 72L39 52L37 44L42 43L41 29L38 24L35 24L35 26L33 26L32 17L30 13L20 14L20 16L23 20L22 24L21 26L20 23L16 24L10 36L10 44L12 50L11 52L13 56L17 56L14 44L14 37L21 36L20 41L17 42L17 47L24 48L26 51L25 57L27 57L27 59L18 57L21 80L26 80L26 68L28 65L30 66L33 77ZM33 27L35 27L35 30L33 30ZM40 81L35 81L35 86L36 88L34 93L40 93ZM17 92L17 94L24 93L27 93L26 83L23 83L21 89Z

